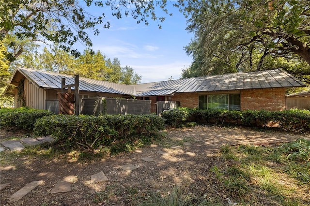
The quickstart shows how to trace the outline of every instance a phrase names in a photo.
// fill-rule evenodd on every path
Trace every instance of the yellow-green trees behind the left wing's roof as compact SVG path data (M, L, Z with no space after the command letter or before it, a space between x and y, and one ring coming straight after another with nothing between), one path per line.
M137 84L141 80L141 76L134 73L131 67L122 68L117 58L111 61L109 58L106 59L100 51L93 52L88 49L75 58L57 45L53 45L51 50L45 47L42 53L36 51L23 53L13 64L60 74L78 74L80 77L122 84Z

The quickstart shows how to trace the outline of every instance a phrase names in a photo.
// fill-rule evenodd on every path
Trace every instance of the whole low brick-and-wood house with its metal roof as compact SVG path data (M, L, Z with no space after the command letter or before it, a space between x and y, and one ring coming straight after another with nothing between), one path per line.
M57 100L62 87L74 84L71 75L17 67L10 83L16 86L15 107L47 109L48 101ZM229 110L279 111L286 107L285 88L306 85L281 70L265 70L210 75L178 80L123 85L90 78L79 78L82 98L121 97L151 101L156 112L157 101L177 101L181 107ZM74 87L72 88L74 90ZM22 96L21 96L22 95Z

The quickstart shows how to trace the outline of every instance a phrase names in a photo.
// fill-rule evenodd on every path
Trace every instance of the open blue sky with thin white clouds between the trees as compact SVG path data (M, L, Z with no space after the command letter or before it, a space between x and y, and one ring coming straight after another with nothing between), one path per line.
M190 43L193 34L186 31L186 18L172 7L168 1L168 10L172 16L160 23L149 19L149 25L136 23L132 17L117 19L109 16L111 10L102 11L97 7L84 7L93 15L106 14L110 22L109 29L99 29L98 36L90 35L93 50L101 51L107 58L120 60L121 66L130 66L142 76L141 83L179 79L182 69L188 67L192 58L187 56L184 46ZM91 32L90 32L91 34ZM85 48L84 48L85 49Z

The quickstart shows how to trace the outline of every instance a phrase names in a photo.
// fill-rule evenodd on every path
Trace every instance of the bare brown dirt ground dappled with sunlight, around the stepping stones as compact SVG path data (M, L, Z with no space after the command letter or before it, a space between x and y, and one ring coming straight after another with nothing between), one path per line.
M217 164L217 153L222 145L270 144L310 138L287 132L217 126L195 126L163 132L166 137L158 144L100 161L81 163L69 155L52 160L20 156L13 160L12 165L0 166L0 183L10 183L0 193L0 205L138 205L155 194L169 193L175 185L188 193L203 196L212 190L209 169ZM1 132L1 139L8 135L12 134ZM141 159L144 157L153 158L154 161L146 162ZM138 168L126 172L120 168L125 164L133 164ZM91 176L101 171L109 181L90 183ZM19 201L10 201L10 195L31 181L38 180L43 180L44 184ZM50 191L59 180L71 182L71 191L51 194Z

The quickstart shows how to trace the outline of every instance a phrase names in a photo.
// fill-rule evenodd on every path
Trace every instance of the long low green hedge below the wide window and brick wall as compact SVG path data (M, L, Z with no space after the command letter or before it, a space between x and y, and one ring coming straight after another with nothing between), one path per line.
M310 130L310 111L290 109L284 111L226 111L180 108L165 111L162 118L173 127L189 122L198 124L224 124L250 127L277 127L285 130Z

